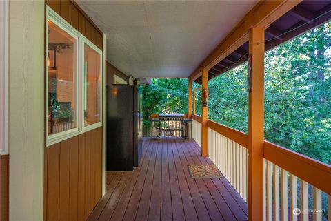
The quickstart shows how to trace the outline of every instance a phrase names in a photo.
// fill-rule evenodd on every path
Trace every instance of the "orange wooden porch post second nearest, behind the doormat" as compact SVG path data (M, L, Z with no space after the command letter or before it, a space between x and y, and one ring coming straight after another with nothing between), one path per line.
M201 156L208 156L208 70L202 70ZM203 101L205 101L204 105Z

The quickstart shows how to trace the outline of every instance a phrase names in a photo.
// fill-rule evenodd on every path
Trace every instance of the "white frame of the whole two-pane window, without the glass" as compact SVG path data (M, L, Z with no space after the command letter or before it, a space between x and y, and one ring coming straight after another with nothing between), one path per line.
M76 73L76 79L77 79L77 127L74 129L70 129L67 131L62 131L57 134L51 134L48 135L48 68L46 68L46 146L54 145L56 143L59 143L63 140L66 140L68 138L72 138L74 136L78 136L79 134L86 133L86 131L90 131L92 129L96 129L97 127L102 126L102 85L103 85L103 56L102 56L102 50L100 50L96 45L94 45L91 41L86 39L83 34L81 34L78 30L72 27L66 20L64 20L57 12L54 12L52 8L47 6L46 8L46 21L50 20L55 25L59 26L59 28L66 31L70 36L72 36L74 39L77 39L77 73ZM48 23L46 22L46 30L48 29ZM46 57L48 56L48 34L46 33ZM100 83L100 122L94 123L92 125L88 125L87 127L84 126L84 116L83 116L83 108L84 108L84 98L83 98L83 65L84 65L84 43L87 43L90 48L93 48L98 52L101 56L101 83ZM45 64L47 67L47 63Z

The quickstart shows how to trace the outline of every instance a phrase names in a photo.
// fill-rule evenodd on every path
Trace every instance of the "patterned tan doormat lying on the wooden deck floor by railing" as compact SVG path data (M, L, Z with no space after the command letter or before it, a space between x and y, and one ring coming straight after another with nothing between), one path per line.
M222 178L223 175L215 165L188 165L191 178Z

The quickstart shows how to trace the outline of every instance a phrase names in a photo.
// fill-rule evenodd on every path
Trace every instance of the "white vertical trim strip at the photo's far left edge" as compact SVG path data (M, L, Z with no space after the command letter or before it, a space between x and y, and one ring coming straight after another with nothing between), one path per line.
M0 1L0 155L8 154L8 4Z

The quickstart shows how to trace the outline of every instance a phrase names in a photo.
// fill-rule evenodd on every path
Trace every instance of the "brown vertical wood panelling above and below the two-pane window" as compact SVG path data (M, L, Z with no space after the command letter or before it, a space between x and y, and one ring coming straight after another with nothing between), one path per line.
M103 50L103 34L77 3L45 3ZM103 127L98 127L44 147L43 220L86 220L99 202L103 192L102 134Z

